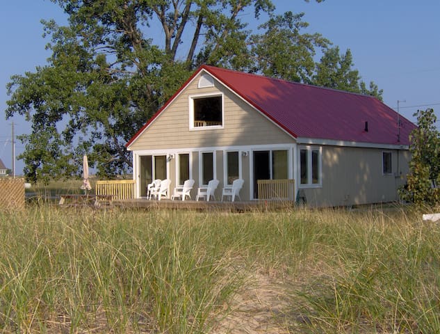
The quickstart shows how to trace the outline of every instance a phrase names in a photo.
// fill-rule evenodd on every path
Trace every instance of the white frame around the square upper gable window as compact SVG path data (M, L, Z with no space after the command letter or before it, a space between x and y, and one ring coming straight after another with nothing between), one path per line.
M220 97L220 120L211 122L209 120L196 120L195 119L195 101L199 99L209 99L210 97ZM189 128L190 130L212 130L223 129L225 127L225 98L223 93L205 93L188 96L188 111L189 111ZM211 124L210 124L211 123Z

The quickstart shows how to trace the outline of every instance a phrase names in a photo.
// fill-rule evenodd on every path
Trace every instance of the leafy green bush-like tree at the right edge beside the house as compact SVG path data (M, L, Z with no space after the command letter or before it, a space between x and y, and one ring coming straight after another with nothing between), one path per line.
M418 205L436 205L440 202L440 133L435 123L434 109L418 110L414 113L418 127L409 136L409 150L412 159L409 163L407 189L401 192L405 200Z

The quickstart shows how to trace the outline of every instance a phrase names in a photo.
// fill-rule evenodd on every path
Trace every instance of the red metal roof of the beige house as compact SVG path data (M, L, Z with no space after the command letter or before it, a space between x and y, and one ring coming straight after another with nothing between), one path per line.
M241 96L294 138L409 145L412 122L375 97L202 65L152 120L202 70ZM400 141L398 141L400 119ZM131 138L127 146L152 120ZM368 132L365 131L368 122Z

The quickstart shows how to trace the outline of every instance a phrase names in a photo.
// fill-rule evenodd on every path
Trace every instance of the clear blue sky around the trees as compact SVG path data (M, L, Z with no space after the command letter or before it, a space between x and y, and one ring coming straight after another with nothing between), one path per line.
M415 122L417 109L440 110L440 0L275 0L277 12L304 12L310 33L321 33L350 49L362 80L384 90L384 103ZM252 19L252 15L246 15ZM6 120L6 84L13 74L35 71L49 54L44 49L41 19L65 22L63 11L49 0L3 1L0 11L0 159L12 166L11 122L15 134L30 130L24 118ZM243 17L245 19L245 17ZM263 23L263 22L261 22ZM19 154L24 147L16 143ZM21 174L24 164L16 161Z

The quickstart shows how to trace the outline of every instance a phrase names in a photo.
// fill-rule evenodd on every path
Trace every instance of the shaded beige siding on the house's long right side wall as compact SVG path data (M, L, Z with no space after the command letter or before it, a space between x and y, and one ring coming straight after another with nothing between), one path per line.
M384 151L392 152L391 175L382 173ZM397 189L405 183L408 162L408 151L323 146L323 186L304 189L307 203L339 206L398 200Z

